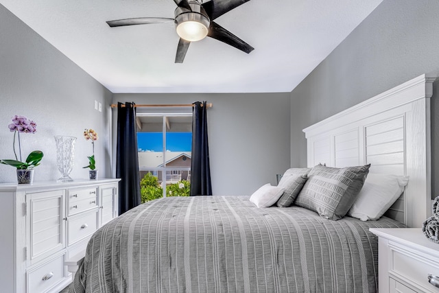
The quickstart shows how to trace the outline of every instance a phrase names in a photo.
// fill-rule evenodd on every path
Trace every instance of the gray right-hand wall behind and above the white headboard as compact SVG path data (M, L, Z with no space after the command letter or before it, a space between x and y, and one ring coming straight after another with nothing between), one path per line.
M439 76L439 1L384 0L291 93L291 165L304 167L302 129L423 73ZM439 185L439 86L432 106L432 191Z

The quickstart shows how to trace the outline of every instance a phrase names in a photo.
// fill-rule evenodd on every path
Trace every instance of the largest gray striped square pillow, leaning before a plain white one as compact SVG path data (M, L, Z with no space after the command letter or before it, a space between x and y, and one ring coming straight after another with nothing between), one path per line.
M369 165L333 168L317 165L308 174L295 204L323 218L339 220L351 209L363 187Z

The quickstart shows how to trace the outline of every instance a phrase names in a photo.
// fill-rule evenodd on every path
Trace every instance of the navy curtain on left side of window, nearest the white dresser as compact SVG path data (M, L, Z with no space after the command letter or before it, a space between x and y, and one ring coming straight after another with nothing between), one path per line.
M121 178L119 181L119 215L141 204L136 108L134 106L134 103L117 103L116 177Z

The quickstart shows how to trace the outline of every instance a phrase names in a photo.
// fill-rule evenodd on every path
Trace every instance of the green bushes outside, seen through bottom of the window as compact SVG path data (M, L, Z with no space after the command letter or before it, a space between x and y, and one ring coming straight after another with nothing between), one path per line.
M149 202L163 197L163 188L158 184L158 178L151 173L147 173L140 181L140 193L143 202ZM178 183L167 185L166 196L189 196L191 193L191 183L181 180Z

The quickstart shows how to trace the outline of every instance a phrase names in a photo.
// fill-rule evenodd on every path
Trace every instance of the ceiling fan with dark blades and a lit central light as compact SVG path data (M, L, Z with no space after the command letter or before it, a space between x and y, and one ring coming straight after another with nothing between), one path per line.
M124 25L146 25L174 21L177 34L180 36L176 63L182 63L185 60L186 52L191 42L202 40L206 36L220 40L249 54L254 50L252 46L213 21L248 1L250 0L211 0L200 3L198 0L174 0L178 6L174 12L174 19L139 17L135 19L118 19L107 21L106 23L110 27L120 27Z

